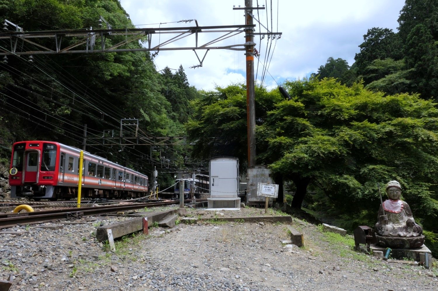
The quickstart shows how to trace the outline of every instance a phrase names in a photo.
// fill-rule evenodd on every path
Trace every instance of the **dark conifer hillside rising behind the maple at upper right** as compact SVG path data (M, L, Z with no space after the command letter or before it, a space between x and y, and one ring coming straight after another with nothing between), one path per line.
M367 89L388 94L438 98L438 1L406 0L398 22L398 32L368 29L351 67L346 60L329 57L315 75L347 85L363 80Z

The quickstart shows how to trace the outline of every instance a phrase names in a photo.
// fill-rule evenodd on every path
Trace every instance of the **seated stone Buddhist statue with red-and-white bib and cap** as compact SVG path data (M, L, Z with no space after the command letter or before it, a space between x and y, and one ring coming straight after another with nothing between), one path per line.
M423 245L423 228L415 223L408 203L400 200L400 183L390 181L386 184L386 194L389 199L380 205L378 222L374 226L377 244L389 248L418 248Z

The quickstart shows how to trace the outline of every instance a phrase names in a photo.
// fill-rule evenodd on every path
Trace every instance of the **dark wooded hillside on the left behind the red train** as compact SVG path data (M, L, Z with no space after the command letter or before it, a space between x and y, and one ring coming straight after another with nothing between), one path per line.
M133 27L117 0L0 0L0 15L26 31L98 27L100 16L113 27ZM106 46L123 39L123 35L108 38ZM141 41L145 39L121 48L139 48ZM31 43L18 45L36 49ZM10 47L4 40L0 46ZM95 49L99 48L96 42ZM148 52L35 55L32 63L27 56L9 56L7 64L0 62L3 160L9 159L11 144L19 140L55 140L81 148L83 124L89 137L102 136L108 129L118 135L121 118L138 118L143 135L184 135L182 124L191 112L188 101L196 96L196 89L182 67L174 73L168 68L156 71ZM150 173L138 162L148 148L90 146L87 150Z

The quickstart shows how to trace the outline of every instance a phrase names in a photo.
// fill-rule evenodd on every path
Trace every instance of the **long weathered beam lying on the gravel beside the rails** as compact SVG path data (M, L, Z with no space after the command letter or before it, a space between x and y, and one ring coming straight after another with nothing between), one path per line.
M167 215L176 213L176 211L176 209L170 209L162 212L143 212L140 214L143 216L98 227L96 230L96 238L98 241L108 240L107 229L112 230L114 239L121 238L124 235L143 230L143 217L148 217L148 225L150 227L155 221L158 222Z

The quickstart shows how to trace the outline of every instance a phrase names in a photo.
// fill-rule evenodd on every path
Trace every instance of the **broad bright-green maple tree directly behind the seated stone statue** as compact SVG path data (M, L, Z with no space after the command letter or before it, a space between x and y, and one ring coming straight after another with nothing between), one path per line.
M362 84L349 88L334 79L285 87L292 99L277 103L258 132L268 143L271 169L296 185L292 206L301 206L311 185L331 213L361 213L361 223L371 224L377 183L396 179L419 221L436 219L436 103L417 95L384 96Z

